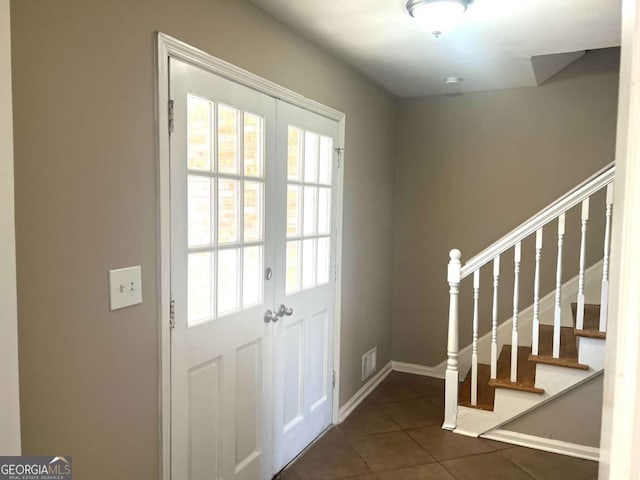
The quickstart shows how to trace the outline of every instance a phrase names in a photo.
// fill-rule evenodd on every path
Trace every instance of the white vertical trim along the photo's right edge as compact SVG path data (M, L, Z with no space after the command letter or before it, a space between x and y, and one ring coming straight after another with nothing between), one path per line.
M640 478L640 5L622 2L610 327L600 479Z

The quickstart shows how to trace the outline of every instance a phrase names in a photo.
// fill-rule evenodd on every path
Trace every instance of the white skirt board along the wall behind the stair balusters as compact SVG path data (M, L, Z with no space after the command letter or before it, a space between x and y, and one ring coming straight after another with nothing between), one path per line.
M585 270L585 303L600 303L600 289L602 287L602 260ZM571 304L577 302L578 298L578 275L566 281L562 285L562 300L560 308L562 311L562 326L573 327L573 313ZM549 292L540 299L540 325L553 325L555 290ZM471 332L471 318L460 319L460 329ZM518 314L518 345L531 346L531 329L533 324L533 304L520 310ZM511 344L511 334L513 328L513 317L498 325L498 355L504 345ZM472 345L462 348L458 353L458 365L460 381L464 380L467 372L471 368ZM396 362L394 362L396 363ZM491 364L491 331L478 339L478 363ZM584 363L584 362L583 362ZM444 360L434 367L428 368L433 374L430 376L444 378L447 369L447 361ZM394 368L395 370L395 368ZM410 372L414 373L414 372Z

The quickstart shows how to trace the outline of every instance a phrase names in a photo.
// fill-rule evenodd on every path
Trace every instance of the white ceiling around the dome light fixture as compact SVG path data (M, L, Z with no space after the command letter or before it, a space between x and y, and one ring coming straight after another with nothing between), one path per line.
M475 0L440 38L406 0L252 1L398 97L535 86L531 57L620 45L620 0Z

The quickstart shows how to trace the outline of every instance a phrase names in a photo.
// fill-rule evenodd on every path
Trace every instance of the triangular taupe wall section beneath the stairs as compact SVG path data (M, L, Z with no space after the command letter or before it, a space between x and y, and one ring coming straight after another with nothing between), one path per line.
M603 379L604 375L598 375L500 428L588 447L599 447Z

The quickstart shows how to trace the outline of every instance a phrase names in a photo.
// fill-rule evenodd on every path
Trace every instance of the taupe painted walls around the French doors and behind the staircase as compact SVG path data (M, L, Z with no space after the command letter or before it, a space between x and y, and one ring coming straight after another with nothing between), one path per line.
M585 55L541 88L396 108L245 1L11 9L22 444L25 454L71 453L83 478L157 478L154 31L347 114L341 403L373 346L380 366L392 343L394 360L444 359L450 248L478 252L613 157L615 50ZM590 259L598 248L590 243ZM144 303L110 313L107 271L135 264Z

